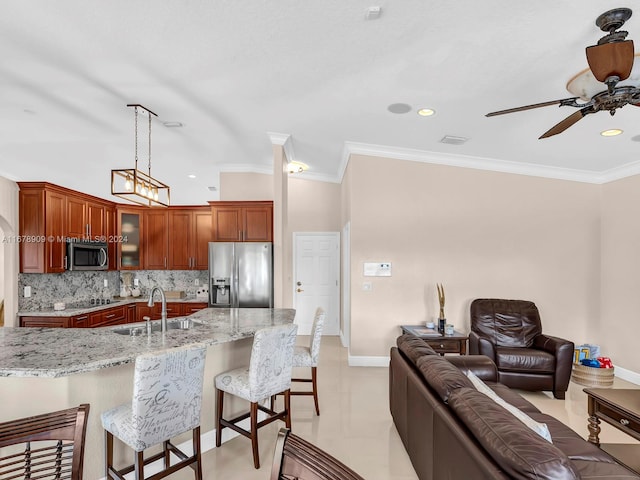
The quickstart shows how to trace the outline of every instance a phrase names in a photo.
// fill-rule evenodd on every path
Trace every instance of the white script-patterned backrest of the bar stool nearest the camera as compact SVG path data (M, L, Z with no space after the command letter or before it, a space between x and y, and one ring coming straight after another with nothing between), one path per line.
M148 448L200 425L205 345L136 358L132 426Z

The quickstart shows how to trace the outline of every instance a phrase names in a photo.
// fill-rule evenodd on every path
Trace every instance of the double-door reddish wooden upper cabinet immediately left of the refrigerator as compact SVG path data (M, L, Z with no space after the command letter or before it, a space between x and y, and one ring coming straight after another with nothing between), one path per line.
M207 270L211 223L208 207L169 210L169 269Z

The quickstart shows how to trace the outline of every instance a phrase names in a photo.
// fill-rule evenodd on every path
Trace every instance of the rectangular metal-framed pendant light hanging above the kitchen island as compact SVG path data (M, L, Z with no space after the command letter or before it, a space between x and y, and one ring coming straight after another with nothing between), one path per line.
M151 116L155 113L137 103L130 103L135 117L135 165L134 168L111 170L111 194L149 207L169 206L169 186L151 176ZM138 170L138 115L149 118L148 173Z

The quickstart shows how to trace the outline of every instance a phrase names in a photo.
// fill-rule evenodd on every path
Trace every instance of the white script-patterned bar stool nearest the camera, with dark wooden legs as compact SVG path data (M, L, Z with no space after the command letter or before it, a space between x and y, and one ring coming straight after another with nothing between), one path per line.
M124 480L135 472L144 479L144 466L164 459L164 469L149 477L157 480L184 467L202 479L200 411L206 356L205 345L188 345L147 353L136 358L131 403L101 415L105 430L106 478ZM171 443L171 438L191 430L193 455L188 456ZM113 466L113 437L135 451L133 465L116 470ZM162 451L144 458L144 450L162 443ZM171 465L171 454L180 461Z

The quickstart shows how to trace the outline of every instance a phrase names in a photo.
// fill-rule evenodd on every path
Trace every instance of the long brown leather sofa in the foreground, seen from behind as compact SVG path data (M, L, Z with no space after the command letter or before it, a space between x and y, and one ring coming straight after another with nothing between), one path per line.
M466 370L546 423L552 443L476 390ZM397 339L389 368L390 410L420 480L640 479L497 378L486 356L442 357L418 337ZM585 434L586 423L585 418Z

